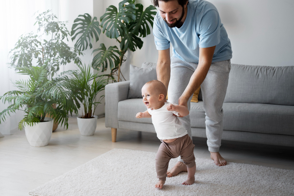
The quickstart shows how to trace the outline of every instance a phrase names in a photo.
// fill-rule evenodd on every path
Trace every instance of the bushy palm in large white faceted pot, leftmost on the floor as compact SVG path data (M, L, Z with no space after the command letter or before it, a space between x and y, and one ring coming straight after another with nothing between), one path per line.
M0 112L1 120L16 110L24 111L24 118L19 122L19 129L25 130L31 146L48 145L54 120L68 128L68 113L78 113L69 91L64 90L62 81L68 80L73 71L62 72L58 77L49 80L50 72L45 61L42 66L24 66L16 68L17 73L29 76L29 80L19 80L14 84L15 91L6 92L0 100L10 105ZM53 104L57 107L54 108ZM49 114L52 118L46 117Z

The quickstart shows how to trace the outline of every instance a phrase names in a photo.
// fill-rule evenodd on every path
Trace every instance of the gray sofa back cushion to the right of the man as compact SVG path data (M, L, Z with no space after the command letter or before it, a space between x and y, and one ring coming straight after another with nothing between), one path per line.
M294 66L231 64L224 102L294 105Z

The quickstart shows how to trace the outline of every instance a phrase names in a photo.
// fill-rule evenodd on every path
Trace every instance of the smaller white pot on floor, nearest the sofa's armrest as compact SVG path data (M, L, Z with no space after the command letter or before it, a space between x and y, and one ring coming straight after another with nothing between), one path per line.
M97 116L94 115L94 118L81 117L81 115L77 117L78 129L80 130L81 135L94 135L97 126Z

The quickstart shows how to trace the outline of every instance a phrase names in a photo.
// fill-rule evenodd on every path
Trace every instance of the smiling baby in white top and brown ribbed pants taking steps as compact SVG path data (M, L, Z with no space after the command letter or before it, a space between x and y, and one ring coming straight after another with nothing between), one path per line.
M159 179L155 187L162 189L166 181L166 172L171 158L179 155L187 166L188 178L183 185L192 185L195 181L195 157L191 138L177 116L186 116L189 110L186 106L176 105L166 101L166 87L161 81L152 80L142 88L145 112L139 112L136 118L152 118L158 139L162 142L156 155L156 173ZM175 115L177 116L175 116Z

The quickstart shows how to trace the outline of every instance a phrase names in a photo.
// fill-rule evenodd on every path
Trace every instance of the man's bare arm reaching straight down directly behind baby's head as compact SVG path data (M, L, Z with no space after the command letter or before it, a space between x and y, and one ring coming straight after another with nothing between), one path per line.
M169 79L171 78L171 55L169 48L158 51L156 74L157 80L161 81L167 90Z

